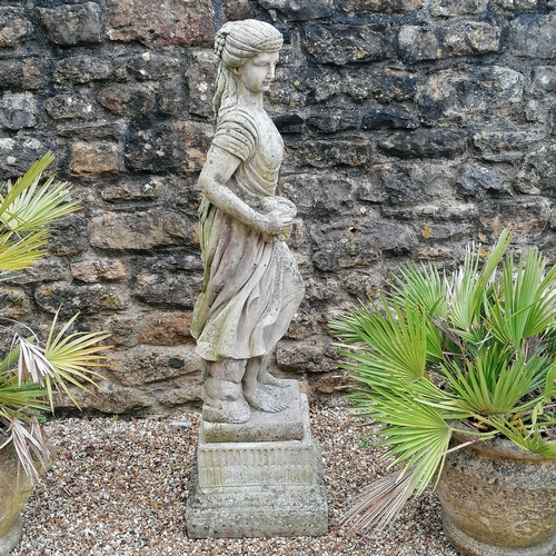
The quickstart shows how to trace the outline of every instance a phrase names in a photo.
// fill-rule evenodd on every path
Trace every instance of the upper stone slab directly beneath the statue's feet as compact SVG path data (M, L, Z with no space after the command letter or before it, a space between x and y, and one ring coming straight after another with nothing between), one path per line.
M304 419L299 383L289 383L286 388L274 388L272 391L288 407L280 413L269 414L251 411L247 423L209 423L202 421L202 431L207 443L260 443L277 440L301 440L304 437Z

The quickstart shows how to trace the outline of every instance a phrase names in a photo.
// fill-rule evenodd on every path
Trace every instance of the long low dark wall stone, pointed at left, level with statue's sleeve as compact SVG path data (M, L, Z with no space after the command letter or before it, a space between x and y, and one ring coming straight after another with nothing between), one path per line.
M418 129L411 133L395 132L378 141L380 149L401 158L456 158L464 153L467 137L464 131Z

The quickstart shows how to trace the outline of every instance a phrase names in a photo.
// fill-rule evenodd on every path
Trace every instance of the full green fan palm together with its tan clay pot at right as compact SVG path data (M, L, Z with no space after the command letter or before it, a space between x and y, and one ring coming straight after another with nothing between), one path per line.
M385 525L436 487L450 542L476 556L556 552L556 267L504 230L458 271L409 265L379 302L331 322L359 416L398 470L346 520Z

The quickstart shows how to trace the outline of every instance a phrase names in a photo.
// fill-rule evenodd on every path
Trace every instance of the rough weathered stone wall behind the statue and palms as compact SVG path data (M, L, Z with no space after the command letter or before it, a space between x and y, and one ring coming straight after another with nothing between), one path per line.
M2 282L0 305L39 329L61 307L111 331L108 380L85 408L199 398L189 322L211 43L247 17L286 38L267 106L307 296L280 373L331 393L327 322L404 261L453 267L505 226L556 260L556 2L1 0L0 178L51 150L82 210L50 257Z

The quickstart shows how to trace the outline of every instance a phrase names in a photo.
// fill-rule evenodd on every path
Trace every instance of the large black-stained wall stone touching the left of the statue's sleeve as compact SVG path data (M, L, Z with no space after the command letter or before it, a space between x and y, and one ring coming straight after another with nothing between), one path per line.
M212 126L195 121L132 127L126 146L127 163L135 170L198 171L212 135Z

